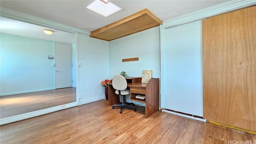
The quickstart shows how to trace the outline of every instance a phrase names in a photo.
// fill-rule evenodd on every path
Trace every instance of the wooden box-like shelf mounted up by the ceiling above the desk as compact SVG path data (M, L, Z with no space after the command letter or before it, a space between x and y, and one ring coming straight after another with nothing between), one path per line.
M92 31L90 37L110 41L136 32L154 28L159 26L159 24L162 24L162 21L148 9L144 9L132 14L131 16Z

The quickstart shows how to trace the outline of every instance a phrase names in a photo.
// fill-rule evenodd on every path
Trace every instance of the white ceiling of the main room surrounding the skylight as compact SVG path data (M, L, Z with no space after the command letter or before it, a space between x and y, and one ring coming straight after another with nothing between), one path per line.
M54 22L93 31L148 8L165 21L230 0L110 0L122 10L104 17L85 8L93 0L0 0L0 6ZM2 23L2 18L1 18ZM32 27L32 26L29 26ZM43 27L40 28L42 30ZM38 28L39 29L39 28ZM56 30L54 30L56 31ZM1 24L2 32L2 24ZM61 31L56 31L56 33ZM42 33L42 31L40 31ZM43 34L43 33L42 33ZM52 35L52 37L54 37Z

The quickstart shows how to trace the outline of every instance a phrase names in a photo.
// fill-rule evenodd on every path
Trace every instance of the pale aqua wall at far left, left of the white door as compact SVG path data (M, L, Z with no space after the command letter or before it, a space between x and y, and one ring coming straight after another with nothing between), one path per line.
M54 42L1 33L1 95L54 89Z

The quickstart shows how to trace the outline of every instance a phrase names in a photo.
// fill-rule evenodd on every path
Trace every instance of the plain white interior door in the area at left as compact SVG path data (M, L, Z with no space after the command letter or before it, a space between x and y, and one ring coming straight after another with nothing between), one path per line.
M72 87L71 44L55 44L55 84L56 88Z

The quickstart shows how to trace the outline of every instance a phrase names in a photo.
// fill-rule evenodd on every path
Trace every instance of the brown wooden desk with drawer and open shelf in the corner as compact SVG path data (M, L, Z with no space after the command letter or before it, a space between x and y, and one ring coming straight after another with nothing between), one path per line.
M130 99L145 103L146 118L159 110L159 78L152 78L147 84L141 83L141 78L127 77L126 81L128 88L130 88ZM109 106L120 104L119 96L115 91L111 81L108 86ZM145 95L145 99L135 98L138 94Z

